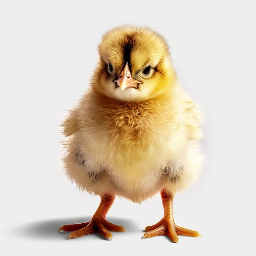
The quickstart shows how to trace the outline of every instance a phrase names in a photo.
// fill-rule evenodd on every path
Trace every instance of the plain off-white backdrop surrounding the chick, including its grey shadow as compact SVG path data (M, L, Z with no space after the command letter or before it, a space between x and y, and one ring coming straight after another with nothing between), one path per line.
M247 203L254 202L247 182L247 171L255 172L247 144L254 139L247 123L247 115L255 119L248 112L249 84L255 87L249 78L255 74L249 63L254 14L246 1L206 2L2 2L4 255L245 252L252 238ZM97 234L67 240L68 233L58 233L61 225L89 220L99 204L61 172L58 125L87 88L102 34L124 23L148 25L166 38L181 83L204 112L207 163L195 186L176 195L173 209L176 223L202 238L180 236L178 244L166 236L142 240L144 228L163 216L159 195L140 205L117 198L107 220L127 232L113 232L112 241Z

